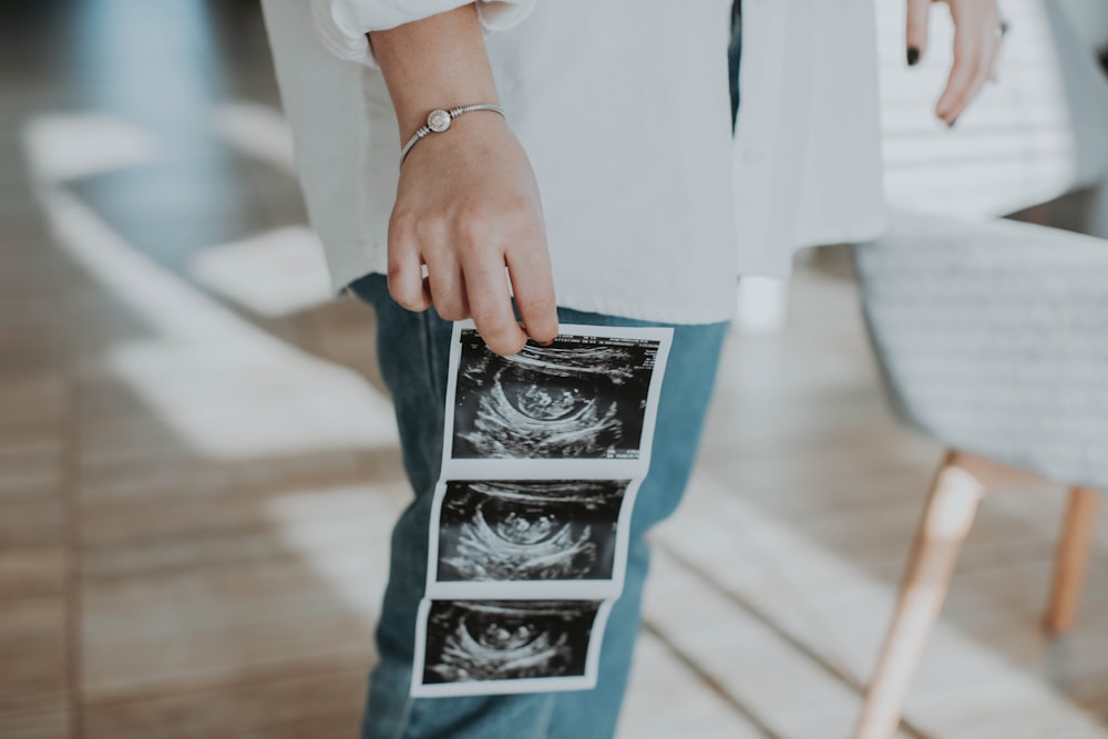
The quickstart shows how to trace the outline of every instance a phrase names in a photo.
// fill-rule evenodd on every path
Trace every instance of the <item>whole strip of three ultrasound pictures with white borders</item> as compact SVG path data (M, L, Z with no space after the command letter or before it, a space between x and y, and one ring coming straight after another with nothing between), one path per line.
M413 696L596 685L673 330L561 328L505 358L454 325Z

